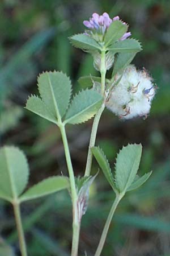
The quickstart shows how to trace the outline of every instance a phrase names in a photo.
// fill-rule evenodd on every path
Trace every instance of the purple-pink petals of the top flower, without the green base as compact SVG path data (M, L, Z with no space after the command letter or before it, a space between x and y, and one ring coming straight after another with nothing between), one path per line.
M83 24L90 30L95 30L101 32L101 34L104 34L107 28L111 25L112 22L115 20L120 20L119 16L115 16L113 19L109 17L108 13L103 13L103 15L99 15L97 13L92 14L92 18L90 18L90 21L84 20ZM123 22L123 24L126 24ZM125 33L120 40L125 40L131 35L130 32Z

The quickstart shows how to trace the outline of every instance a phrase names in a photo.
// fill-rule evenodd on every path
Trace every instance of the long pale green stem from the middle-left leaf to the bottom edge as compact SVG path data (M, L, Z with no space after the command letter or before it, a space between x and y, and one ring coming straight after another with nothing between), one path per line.
M78 205L77 205L78 204L78 195L76 192L74 171L73 171L73 166L71 163L71 157L70 157L69 145L67 142L65 126L61 123L61 125L59 125L59 129L61 130L63 146L65 149L67 168L68 168L69 177L70 177L71 198L72 198L72 203L73 203L73 240L72 240L71 256L77 256L78 255L78 245L79 245L79 232L80 232L80 220L79 220Z

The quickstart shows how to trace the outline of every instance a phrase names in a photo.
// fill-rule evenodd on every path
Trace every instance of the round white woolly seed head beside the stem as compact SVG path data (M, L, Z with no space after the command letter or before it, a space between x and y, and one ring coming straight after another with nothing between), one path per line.
M119 79L120 82L111 90L107 108L124 119L147 117L155 95L151 77L145 69L137 71L133 65L129 65L122 77L117 75L116 81Z

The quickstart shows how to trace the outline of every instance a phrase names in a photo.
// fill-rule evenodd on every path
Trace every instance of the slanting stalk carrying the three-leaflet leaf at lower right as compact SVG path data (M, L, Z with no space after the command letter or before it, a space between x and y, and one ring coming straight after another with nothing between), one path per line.
M101 234L100 242L99 242L99 245L97 247L95 256L100 256L101 251L103 250L103 246L104 246L104 243L105 243L105 240L106 240L106 237L107 237L109 226L110 226L112 218L113 218L113 214L114 214L114 212L115 212L115 210L117 208L118 203L122 199L122 197L123 197L123 195L117 195L116 199L114 200L114 203L113 203L112 208L111 208L111 210L109 212L107 221L105 222L105 226L104 226L103 232Z

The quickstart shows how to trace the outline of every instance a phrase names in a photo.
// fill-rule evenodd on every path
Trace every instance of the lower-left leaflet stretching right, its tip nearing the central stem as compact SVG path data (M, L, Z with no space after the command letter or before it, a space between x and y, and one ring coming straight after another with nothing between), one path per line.
M20 201L28 201L50 195L62 189L69 188L69 179L64 176L53 176L40 181L20 196Z

